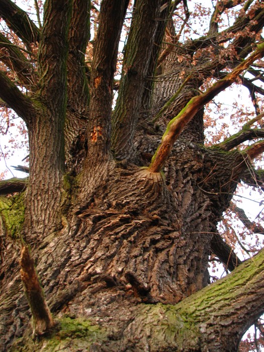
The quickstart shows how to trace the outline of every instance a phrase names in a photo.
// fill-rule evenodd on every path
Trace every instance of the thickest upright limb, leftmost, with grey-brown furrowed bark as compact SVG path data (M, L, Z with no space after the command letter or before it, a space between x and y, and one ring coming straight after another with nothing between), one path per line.
M39 233L61 226L65 170L64 123L67 106L68 31L72 0L46 0L38 63L36 104L42 109L28 124L30 176L25 231L31 242ZM42 206L43 202L45 207Z

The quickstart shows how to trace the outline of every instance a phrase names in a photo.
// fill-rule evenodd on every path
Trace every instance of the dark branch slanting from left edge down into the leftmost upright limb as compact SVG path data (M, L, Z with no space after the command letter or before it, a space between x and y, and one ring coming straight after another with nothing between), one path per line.
M35 113L31 99L21 93L18 87L2 71L0 71L0 98L25 122L28 122Z

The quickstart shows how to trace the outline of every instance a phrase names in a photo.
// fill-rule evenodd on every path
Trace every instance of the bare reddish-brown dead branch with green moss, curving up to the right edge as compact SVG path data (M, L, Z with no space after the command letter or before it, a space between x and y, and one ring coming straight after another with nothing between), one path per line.
M195 114L207 103L209 103L218 93L230 86L237 76L248 68L256 59L264 55L264 43L257 46L256 50L244 61L242 61L231 73L223 79L218 80L205 93L192 98L186 107L174 117L168 124L163 134L161 144L158 146L151 163L148 167L150 172L159 172L163 167L172 146L183 131L184 127L190 122Z

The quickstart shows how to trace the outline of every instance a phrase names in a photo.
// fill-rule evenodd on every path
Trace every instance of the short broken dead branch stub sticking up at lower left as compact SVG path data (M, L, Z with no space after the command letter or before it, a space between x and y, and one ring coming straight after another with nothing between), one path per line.
M54 326L44 292L40 285L30 248L22 243L20 275L33 317L33 335L42 335Z

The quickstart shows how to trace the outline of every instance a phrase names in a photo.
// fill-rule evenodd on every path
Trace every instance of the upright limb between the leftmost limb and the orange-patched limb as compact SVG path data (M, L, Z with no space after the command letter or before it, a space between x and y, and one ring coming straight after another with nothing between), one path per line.
M72 6L67 58L67 116L64 133L67 171L72 165L76 165L72 146L76 145L76 140L81 138L80 135L84 136L89 117L90 92L84 59L87 42L90 39L90 5L89 0L74 0Z

